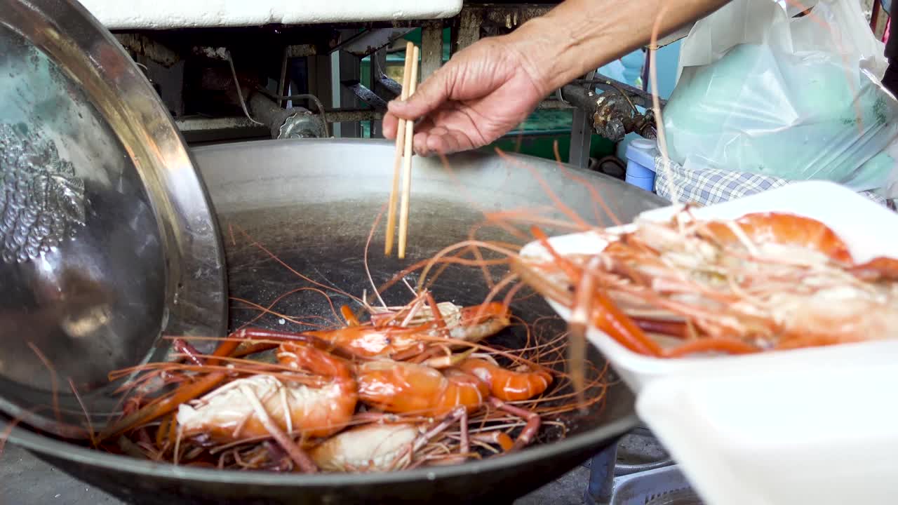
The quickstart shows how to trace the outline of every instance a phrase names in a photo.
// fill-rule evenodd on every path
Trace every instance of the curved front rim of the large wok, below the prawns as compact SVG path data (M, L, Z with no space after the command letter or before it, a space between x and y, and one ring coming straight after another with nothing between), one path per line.
M621 384L618 387L626 387L626 385ZM12 430L6 441L37 453L39 457L44 455L66 459L71 463L101 467L119 474L148 475L163 479L188 480L191 483L252 484L269 487L334 487L340 485L409 483L422 480L436 481L470 474L496 472L507 467L526 465L542 459L554 459L566 453L575 452L577 448L599 447L603 442L610 441L632 430L638 426L638 423L636 412L629 412L627 415L603 424L598 428L555 442L527 447L517 453L488 457L459 465L426 466L413 470L363 474L242 472L238 470L217 470L157 463L139 460L131 456L104 453L66 441L50 439L18 426ZM8 420L0 421L0 428L8 429L8 425ZM60 468L60 470L66 472L65 468Z

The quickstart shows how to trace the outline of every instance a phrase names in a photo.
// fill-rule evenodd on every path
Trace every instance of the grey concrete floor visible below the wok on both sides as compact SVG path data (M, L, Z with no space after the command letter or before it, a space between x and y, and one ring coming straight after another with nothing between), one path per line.
M515 501L515 505L581 505L588 481L589 470L578 466L559 480ZM20 447L7 444L0 458L0 504L124 505L124 502L76 481Z

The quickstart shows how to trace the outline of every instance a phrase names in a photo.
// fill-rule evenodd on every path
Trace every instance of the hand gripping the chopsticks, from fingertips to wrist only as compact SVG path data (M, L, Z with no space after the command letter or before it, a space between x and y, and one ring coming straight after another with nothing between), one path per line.
M406 102L390 102L383 137L399 120L418 120L418 155L486 146L520 124L550 90L524 46L505 37L479 40L430 75Z

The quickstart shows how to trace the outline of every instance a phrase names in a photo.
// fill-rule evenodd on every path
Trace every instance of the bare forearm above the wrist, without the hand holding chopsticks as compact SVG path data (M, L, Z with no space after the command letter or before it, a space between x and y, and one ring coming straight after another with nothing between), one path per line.
M659 14L660 38L728 1L566 0L507 37L548 92L647 45Z

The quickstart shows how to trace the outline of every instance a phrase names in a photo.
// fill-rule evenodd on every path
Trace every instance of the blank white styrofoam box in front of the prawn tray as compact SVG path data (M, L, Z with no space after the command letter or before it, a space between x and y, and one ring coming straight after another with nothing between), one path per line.
M898 503L898 341L674 373L637 412L708 505Z

